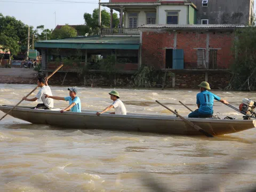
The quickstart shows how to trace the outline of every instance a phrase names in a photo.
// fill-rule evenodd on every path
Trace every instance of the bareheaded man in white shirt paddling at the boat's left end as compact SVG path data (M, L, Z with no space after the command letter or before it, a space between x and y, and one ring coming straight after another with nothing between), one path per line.
M45 77L39 77L37 80L37 86L41 87L40 91L38 91L36 97L33 99L28 99L26 97L23 97L23 100L25 101L36 101L37 99L41 99L43 103L37 104L36 107L33 107L31 109L51 109L53 108L53 99L42 97L43 94L52 95L52 91L50 86L48 86L48 78Z

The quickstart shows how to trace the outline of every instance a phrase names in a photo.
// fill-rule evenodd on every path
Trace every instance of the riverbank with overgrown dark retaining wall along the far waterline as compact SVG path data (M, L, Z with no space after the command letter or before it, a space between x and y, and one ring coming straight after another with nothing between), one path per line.
M52 71L44 71L42 76L50 75ZM126 88L163 88L164 89L198 89L198 84L208 81L211 88L222 90L229 84L230 74L221 71L180 71L167 73L151 71L149 74L140 73L86 73L84 75L74 71L59 71L49 80L51 85L85 86L85 87L126 87ZM209 74L208 74L209 73ZM37 71L24 68L0 68L0 83L7 84L35 84Z

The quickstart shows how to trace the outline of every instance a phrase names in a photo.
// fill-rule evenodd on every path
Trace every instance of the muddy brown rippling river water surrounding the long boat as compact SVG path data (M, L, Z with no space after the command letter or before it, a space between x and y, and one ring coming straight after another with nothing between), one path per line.
M0 84L0 105L15 105L34 87ZM78 88L83 109L99 111L112 102L111 89ZM68 95L67 87L51 89L53 95ZM189 111L179 100L196 109L197 90L118 91L129 113L173 115L155 100L181 115ZM213 92L234 106L252 95ZM22 102L22 106L36 104ZM54 105L63 108L68 103L54 101ZM219 102L214 103L217 111L221 117L242 117ZM0 191L245 191L256 179L255 133L252 129L207 138L74 127L62 130L6 116L0 122Z

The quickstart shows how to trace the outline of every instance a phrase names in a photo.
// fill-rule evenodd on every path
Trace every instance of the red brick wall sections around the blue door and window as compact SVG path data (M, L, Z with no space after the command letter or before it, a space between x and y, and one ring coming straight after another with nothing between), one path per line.
M210 33L210 49L218 49L217 65L219 69L227 69L233 56L231 45L233 35L226 33ZM157 69L165 68L165 48L172 48L174 32L142 33L142 65L154 66ZM196 31L182 31L177 34L177 49L184 50L185 68L197 68L197 48L206 49L206 33Z

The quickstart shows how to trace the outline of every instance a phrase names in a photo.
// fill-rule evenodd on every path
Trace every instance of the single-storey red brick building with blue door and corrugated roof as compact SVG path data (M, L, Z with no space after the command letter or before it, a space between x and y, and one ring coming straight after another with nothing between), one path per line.
M236 25L141 26L142 63L158 69L228 69Z

